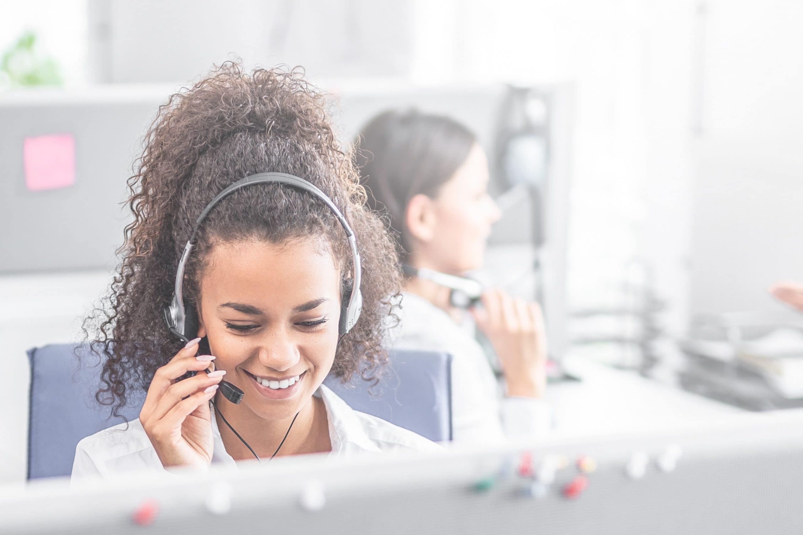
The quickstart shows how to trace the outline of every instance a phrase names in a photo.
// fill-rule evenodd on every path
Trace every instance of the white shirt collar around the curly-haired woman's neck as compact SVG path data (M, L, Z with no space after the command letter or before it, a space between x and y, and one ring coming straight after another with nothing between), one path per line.
M352 452L381 451L377 444L365 433L365 428L357 417L357 411L349 407L349 404L343 399L340 399L339 395L336 395L330 388L323 384L318 387L318 390L313 395L323 399L324 407L326 407L329 441L332 443L330 456ZM212 462L234 465L234 458L229 455L229 452L226 452L226 446L223 444L223 440L220 436L218 419L214 415L214 408L212 409L211 416L212 434L214 438Z

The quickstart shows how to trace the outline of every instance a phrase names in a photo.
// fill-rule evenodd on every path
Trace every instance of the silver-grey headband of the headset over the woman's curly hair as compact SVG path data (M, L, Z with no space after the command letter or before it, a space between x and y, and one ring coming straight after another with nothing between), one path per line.
M168 327L170 330L173 330L173 332L181 336L181 338L188 338L188 333L186 333L186 310L184 306L183 295L184 270L187 259L190 257L190 253L195 247L195 235L198 233L198 229L200 228L202 222L204 219L206 219L206 216L209 215L212 209L214 209L215 205L218 205L220 201L228 197L231 193L234 193L238 189L245 188L251 184L270 183L285 184L293 188L298 188L308 193L312 193L312 195L318 197L321 201L324 201L324 203L326 203L329 209L331 209L337 217L337 221L340 221L340 225L343 227L346 233L346 239L349 241L349 248L351 249L352 253L354 280L351 295L349 296L349 304L348 306L344 306L340 312L340 334L342 335L348 333L354 324L357 323L357 319L360 318L360 312L362 310L362 294L360 291L362 269L360 253L357 251L357 239L354 237L354 232L349 226L349 222L346 221L346 218L343 217L343 214L340 213L340 210L337 209L332 200L329 199L324 192L317 188L315 184L311 184L307 180L299 178L298 176L288 175L283 172L261 172L256 175L246 176L241 180L237 180L234 182L234 184L231 184L221 193L218 193L217 197L214 197L214 199L212 199L212 201L206 205L206 208L203 209L201 215L198 216L198 219L195 221L193 232L190 234L190 239L187 241L187 245L184 247L184 253L181 253L181 260L178 262L175 288L173 290L173 299L171 300L170 305L167 307L167 310L165 310L165 320L168 324Z

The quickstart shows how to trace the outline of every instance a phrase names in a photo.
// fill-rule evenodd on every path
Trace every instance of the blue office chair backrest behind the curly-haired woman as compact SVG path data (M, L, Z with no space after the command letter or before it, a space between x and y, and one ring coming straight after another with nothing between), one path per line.
M359 378L342 385L329 377L325 383L357 411L430 440L450 440L450 355L396 351L390 359L385 379L373 391ZM77 351L69 344L35 347L28 351L28 360L28 479L68 476L79 440L123 420L111 418L109 407L95 401L100 365L87 346ZM127 419L137 419L145 401L145 392L132 394L120 411Z

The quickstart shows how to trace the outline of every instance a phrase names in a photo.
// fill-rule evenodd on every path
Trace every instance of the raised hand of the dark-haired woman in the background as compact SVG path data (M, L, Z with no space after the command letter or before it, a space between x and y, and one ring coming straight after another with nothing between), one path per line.
M546 387L547 343L544 314L535 302L486 290L483 308L471 310L477 326L502 364L507 395L540 398Z

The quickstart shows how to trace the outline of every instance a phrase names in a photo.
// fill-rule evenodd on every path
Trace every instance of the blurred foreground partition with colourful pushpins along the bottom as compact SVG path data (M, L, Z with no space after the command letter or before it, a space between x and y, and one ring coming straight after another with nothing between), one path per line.
M803 411L428 455L0 491L0 533L800 533Z

